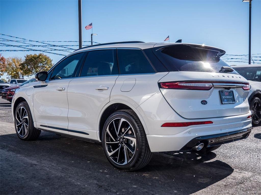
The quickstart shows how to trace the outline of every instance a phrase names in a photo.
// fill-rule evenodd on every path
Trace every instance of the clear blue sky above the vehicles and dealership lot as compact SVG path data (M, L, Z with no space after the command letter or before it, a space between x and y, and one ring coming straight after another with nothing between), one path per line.
M248 54L248 3L209 1L82 1L83 40L204 43L227 54ZM252 54L261 53L261 1L252 1ZM78 1L0 2L0 32L31 40L78 40ZM10 37L0 36L5 39ZM13 39L12 39L13 40ZM4 42L11 45L22 43ZM28 42L31 44L37 44ZM63 44L67 43L53 43ZM68 43L68 45L78 43ZM74 47L75 49L77 47ZM1 49L16 49L1 47ZM19 48L17 48L19 49ZM22 48L20 48L22 49ZM35 48L39 49L39 48ZM39 52L1 52L5 57ZM67 52L57 52L64 53ZM62 56L47 54L53 62Z

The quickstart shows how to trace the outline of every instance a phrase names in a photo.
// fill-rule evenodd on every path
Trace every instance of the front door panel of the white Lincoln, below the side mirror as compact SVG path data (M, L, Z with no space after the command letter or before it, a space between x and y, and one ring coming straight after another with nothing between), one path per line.
M71 80L60 79L49 80L45 83L35 82L33 111L38 128L68 134L66 130L49 129L44 126L68 129L67 89ZM64 90L59 90L61 88L64 88Z

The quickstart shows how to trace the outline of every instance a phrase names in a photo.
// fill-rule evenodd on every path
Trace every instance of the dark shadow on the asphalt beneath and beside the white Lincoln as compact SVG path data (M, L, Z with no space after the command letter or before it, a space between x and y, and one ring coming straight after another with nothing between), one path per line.
M37 141L0 139L1 194L191 194L234 171L214 152L154 153L143 169L124 172L110 165L101 144L47 132Z

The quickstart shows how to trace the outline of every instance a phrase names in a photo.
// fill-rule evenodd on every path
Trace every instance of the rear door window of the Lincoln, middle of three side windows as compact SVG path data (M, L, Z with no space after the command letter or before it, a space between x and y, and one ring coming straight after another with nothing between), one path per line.
M119 74L115 49L90 51L84 61L80 77Z

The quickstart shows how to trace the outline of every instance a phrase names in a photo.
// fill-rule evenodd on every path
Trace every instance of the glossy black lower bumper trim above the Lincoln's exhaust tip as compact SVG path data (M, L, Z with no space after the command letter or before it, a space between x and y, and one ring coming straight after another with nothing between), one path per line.
M181 150L191 149L196 143L204 142L206 147L219 146L224 143L230 143L242 139L246 139L251 133L252 128L232 131L227 133L200 136L189 141Z

